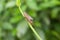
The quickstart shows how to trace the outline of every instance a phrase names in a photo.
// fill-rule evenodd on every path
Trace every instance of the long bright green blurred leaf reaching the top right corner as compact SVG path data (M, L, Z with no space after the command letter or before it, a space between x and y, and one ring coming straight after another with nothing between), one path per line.
M41 3L39 5L40 10L46 9L46 8L51 8L54 7L56 5L60 5L59 1L50 1L50 2L46 2L46 3Z

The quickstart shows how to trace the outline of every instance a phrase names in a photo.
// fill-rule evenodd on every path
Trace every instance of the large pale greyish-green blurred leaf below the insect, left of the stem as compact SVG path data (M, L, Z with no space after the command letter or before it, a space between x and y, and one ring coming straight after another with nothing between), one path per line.
M28 29L28 24L25 20L23 20L17 25L17 37L21 38L22 36L24 36L25 33L27 32L27 29Z

